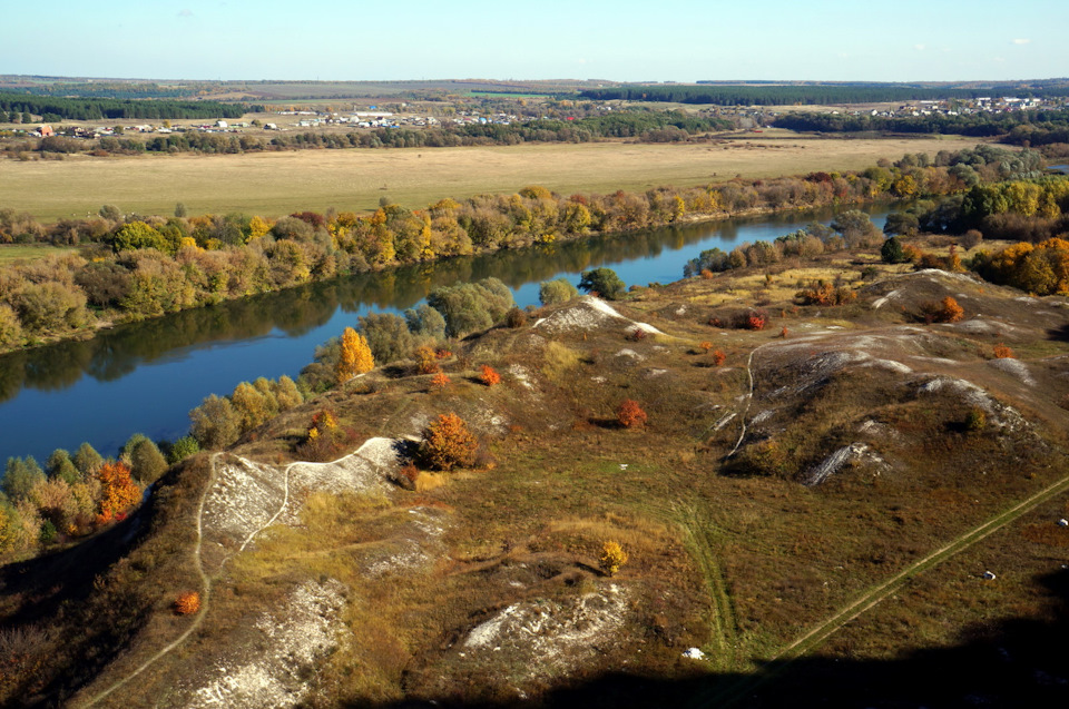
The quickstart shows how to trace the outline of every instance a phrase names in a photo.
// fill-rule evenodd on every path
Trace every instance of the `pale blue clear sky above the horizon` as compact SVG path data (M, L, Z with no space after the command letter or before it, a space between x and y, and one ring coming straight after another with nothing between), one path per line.
M960 81L1069 77L1066 0L55 0L0 73L148 79Z

